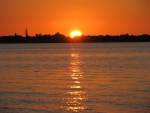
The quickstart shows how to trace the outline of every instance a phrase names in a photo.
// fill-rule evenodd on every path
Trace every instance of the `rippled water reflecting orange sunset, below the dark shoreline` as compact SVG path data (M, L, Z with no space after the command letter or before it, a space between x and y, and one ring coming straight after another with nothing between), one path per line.
M1 113L149 113L150 43L0 44Z

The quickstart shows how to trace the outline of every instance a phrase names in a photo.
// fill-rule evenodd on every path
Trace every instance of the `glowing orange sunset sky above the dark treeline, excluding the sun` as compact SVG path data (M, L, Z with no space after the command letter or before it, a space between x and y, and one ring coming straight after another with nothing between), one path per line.
M0 36L150 34L150 0L0 0Z

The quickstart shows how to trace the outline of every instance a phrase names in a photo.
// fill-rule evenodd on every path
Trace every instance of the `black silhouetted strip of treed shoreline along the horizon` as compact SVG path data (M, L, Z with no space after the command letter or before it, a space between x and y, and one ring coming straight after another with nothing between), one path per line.
M55 35L41 35L36 34L35 36L1 36L0 43L76 43L76 42L150 42L150 35L99 35L99 36L80 36L66 37L63 34L56 33Z

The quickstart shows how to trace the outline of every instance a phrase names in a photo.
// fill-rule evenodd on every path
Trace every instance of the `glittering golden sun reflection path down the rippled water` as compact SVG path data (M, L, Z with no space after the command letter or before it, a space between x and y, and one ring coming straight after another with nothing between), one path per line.
M71 84L63 98L64 110L79 112L88 109L86 101L88 100L86 92L83 90L81 83L83 82L83 72L81 70L82 63L80 55L72 49L71 63L70 63L70 81Z

